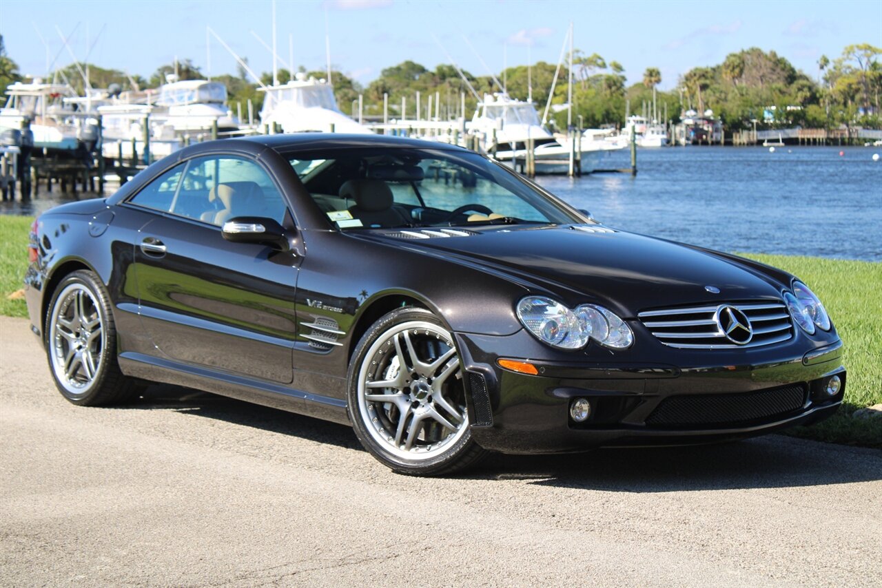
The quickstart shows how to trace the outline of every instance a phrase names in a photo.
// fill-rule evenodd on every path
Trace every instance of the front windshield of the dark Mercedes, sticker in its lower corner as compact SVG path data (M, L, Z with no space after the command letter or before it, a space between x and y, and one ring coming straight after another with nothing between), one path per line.
M477 153L411 148L290 153L341 230L579 222L518 175Z

